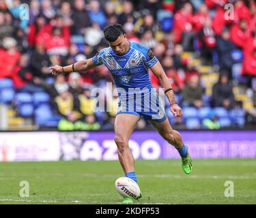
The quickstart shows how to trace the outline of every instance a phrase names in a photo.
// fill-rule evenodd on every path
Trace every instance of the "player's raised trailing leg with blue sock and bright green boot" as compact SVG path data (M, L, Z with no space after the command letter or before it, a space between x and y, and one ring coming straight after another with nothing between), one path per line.
M177 151L180 153L180 156L182 157L182 169L186 174L190 174L192 171L193 163L190 155L188 154L188 148L183 143L180 133L176 130L173 130L168 119L165 119L165 121L162 122L152 120L150 123L152 123L152 125L157 129L162 138L167 140L169 144L175 146Z

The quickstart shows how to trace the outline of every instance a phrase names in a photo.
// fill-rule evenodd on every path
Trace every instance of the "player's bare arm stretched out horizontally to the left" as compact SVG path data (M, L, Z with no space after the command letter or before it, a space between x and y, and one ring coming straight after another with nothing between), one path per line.
M94 64L94 61L92 61L92 58L91 58L91 59L78 61L76 63L63 66L63 67L59 65L54 65L49 68L51 70L51 74L57 75L57 74L64 74L64 73L70 73L70 72L83 72L88 69L91 69L92 67L96 67L96 65Z

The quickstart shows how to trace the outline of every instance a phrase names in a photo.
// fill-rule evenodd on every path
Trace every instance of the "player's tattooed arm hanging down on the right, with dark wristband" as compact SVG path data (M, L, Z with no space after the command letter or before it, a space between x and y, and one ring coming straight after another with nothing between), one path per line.
M153 74L156 75L158 80L160 81L161 87L165 89L165 95L167 96L171 104L170 110L172 114L174 116L182 116L182 108L180 108L180 106L178 106L175 101L175 95L173 92L173 88L171 87L171 82L166 76L164 69L162 69L162 65L160 64L160 62L156 62L156 64L153 65L151 69Z

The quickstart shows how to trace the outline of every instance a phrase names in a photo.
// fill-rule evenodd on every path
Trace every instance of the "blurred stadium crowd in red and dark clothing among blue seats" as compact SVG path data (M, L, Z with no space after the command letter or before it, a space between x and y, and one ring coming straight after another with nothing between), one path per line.
M21 3L29 5L29 19L20 19ZM231 19L226 18L226 3L233 5ZM113 81L104 65L57 77L48 67L96 55L108 46L102 29L115 22L124 25L128 40L152 48L162 63L177 103L184 108L184 117L174 118L165 101L173 125L219 129L255 122L255 112L245 116L233 93L235 84L243 84L252 97L256 93L254 1L0 0L1 102L40 127L113 129L117 94L109 112L94 112L91 97L91 89L106 90L106 82ZM215 67L219 79L212 95L205 94L200 69L184 52ZM156 76L150 76L159 87ZM12 84L5 87L8 79ZM149 126L143 119L138 123L139 129Z

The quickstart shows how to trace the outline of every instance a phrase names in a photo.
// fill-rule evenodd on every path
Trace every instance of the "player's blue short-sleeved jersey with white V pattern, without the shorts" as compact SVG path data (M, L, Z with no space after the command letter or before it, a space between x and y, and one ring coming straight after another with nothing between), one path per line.
M152 88L148 68L158 59L147 46L130 42L130 48L124 55L116 55L111 47L104 48L93 57L96 65L104 64L111 72L117 88Z

